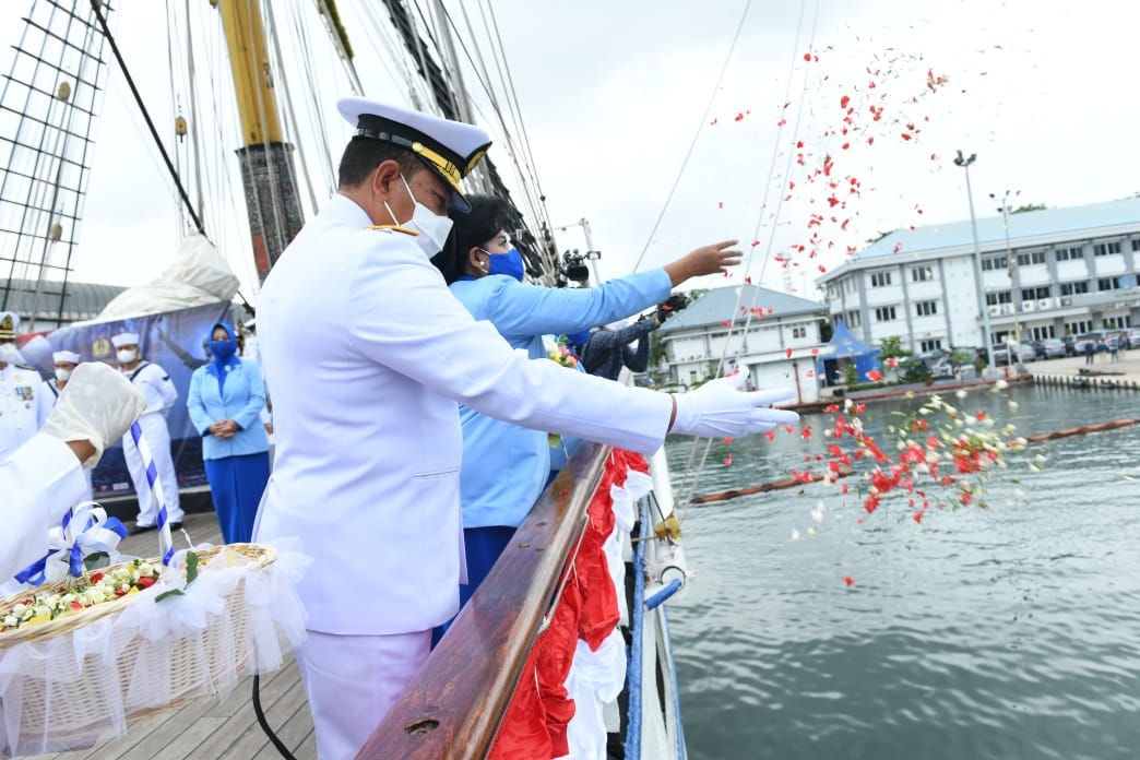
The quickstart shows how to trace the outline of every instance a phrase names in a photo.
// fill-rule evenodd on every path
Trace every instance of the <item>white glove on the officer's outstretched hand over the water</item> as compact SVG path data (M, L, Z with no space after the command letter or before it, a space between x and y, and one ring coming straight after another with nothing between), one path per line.
M677 416L669 432L700 438L740 438L799 422L795 411L767 408L796 398L791 389L741 391L747 381L747 371L736 371L709 381L692 393L674 395Z

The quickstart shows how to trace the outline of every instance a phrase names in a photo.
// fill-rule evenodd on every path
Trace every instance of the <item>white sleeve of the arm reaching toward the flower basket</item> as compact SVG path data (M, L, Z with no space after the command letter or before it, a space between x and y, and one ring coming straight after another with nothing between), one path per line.
M63 441L34 435L0 457L0 581L43 556L48 530L87 493L79 458Z

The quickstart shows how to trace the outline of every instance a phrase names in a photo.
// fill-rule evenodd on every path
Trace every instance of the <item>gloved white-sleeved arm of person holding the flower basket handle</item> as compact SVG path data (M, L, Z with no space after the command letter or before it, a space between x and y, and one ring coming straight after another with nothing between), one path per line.
M95 467L146 401L100 362L80 365L40 432L0 457L0 579L43 556L48 530L87 490L80 465Z

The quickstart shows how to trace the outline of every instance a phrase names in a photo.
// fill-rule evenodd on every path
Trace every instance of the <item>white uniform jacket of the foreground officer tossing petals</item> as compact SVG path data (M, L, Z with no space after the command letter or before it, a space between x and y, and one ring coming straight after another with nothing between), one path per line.
M414 239L365 229L335 196L261 289L274 472L254 540L300 537L309 628L425 630L458 610L456 402L539 430L653 451L665 394L531 361L477 322Z

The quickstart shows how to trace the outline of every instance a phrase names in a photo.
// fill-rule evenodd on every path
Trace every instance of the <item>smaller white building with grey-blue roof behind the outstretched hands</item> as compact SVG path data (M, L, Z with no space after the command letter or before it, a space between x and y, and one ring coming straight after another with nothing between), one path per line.
M828 307L756 285L709 291L658 328L670 382L703 379L725 359L747 365L756 387L796 389L797 402L820 400L816 358L831 351L820 341Z

